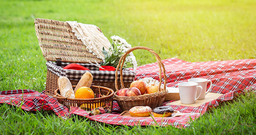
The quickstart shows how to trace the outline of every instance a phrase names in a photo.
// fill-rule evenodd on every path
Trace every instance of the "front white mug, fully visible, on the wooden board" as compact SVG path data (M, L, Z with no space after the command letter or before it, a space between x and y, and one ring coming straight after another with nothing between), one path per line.
M182 104L194 104L196 100L202 95L202 86L197 86L196 82L180 82L178 84L180 92L180 102ZM201 89L199 96L196 98L198 88Z

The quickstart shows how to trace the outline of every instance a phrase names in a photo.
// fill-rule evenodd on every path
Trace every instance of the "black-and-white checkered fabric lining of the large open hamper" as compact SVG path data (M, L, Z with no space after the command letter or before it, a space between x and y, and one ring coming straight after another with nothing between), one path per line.
M57 76L66 76L70 80L80 80L80 78L83 76L84 73L90 72L93 76L94 80L97 81L115 81L115 74L116 71L99 71L97 70L98 67L92 65L92 64L82 64L77 63L79 65L82 65L90 70L69 70L69 69L63 69L66 65L71 64L67 62L62 62L62 67L57 66L56 62L47 61L46 66L47 69L50 70L52 73L56 74ZM125 68L123 70L123 81L129 82L133 81L136 73L132 70L129 70ZM120 71L118 71L118 80L120 80Z

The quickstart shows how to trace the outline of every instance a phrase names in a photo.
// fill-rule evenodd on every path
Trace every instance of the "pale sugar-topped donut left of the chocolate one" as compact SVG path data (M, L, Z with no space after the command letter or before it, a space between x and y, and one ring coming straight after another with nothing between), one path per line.
M147 117L147 116L150 116L151 110L152 109L148 106L146 107L138 106L138 107L132 107L129 110L129 113L133 117Z

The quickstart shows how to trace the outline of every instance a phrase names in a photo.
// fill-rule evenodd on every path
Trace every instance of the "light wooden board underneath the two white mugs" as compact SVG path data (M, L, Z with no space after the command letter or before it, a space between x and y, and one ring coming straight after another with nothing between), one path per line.
M207 95L205 95L205 99L197 100L196 103L194 104L182 104L180 103L180 100L178 100L178 101L168 103L166 105L182 105L182 106L190 106L190 107L200 107L202 104L212 101L214 99L217 99L222 95L223 94L209 92Z

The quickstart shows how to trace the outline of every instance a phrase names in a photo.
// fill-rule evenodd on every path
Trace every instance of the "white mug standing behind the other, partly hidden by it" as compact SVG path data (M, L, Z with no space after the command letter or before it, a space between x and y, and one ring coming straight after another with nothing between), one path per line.
M188 82L196 82L198 83L198 86L202 86L203 88L203 92L202 92L202 95L199 96L199 100L200 99L205 99L205 95L211 90L211 87L212 87L212 82L211 80L208 80L208 79L205 79L205 78L191 78L191 79L188 79ZM208 90L206 91L206 88L207 88L207 83L210 82L210 87L208 88ZM199 93L197 92L197 95L198 96Z

